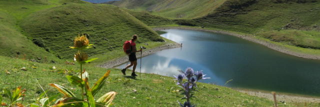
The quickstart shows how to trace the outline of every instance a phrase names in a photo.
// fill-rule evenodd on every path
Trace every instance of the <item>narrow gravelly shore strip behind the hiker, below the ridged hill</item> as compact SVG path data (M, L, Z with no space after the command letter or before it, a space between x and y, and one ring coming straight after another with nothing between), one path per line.
M153 54L153 53L155 53L157 51L161 51L163 49L177 48L177 47L181 47L181 45L179 43L166 43L166 44L163 44L163 45L158 46L158 47L154 47L154 48L143 50L142 51L142 57L146 56L146 55L149 55L149 54ZM141 57L140 52L136 52L136 57L137 58ZM127 61L129 61L128 60L128 56L125 55L125 56L122 56L122 57L119 57L119 58L116 58L116 59L113 59L113 60L108 60L104 64L100 64L98 66L99 67L103 67L103 68L112 68L112 67L115 67L116 65L120 65L120 64L125 63Z

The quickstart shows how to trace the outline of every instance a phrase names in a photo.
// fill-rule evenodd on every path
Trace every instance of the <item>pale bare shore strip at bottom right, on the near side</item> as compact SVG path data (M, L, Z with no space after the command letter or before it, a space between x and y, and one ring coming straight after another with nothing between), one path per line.
M250 89L237 89L237 88L233 88L233 89L251 96L264 97L269 100L273 100L273 95L271 94L271 92L250 90ZM291 95L291 94L277 93L277 92L276 92L276 100L282 103L285 103L285 102L320 103L320 98L317 98L317 97L294 95L294 94Z

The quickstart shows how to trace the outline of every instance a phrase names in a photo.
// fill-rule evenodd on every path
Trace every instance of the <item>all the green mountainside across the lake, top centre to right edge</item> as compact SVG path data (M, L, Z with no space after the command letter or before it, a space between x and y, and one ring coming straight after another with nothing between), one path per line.
M318 0L121 0L109 3L131 8L135 12L130 13L148 25L156 23L150 19L145 21L146 17L157 15L172 18L173 23L179 25L254 34L282 44L320 49ZM146 12L138 13L142 10Z

